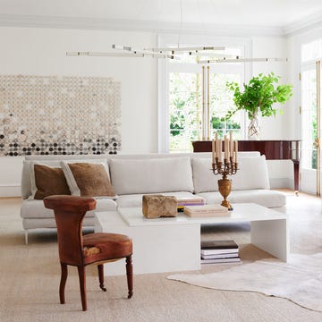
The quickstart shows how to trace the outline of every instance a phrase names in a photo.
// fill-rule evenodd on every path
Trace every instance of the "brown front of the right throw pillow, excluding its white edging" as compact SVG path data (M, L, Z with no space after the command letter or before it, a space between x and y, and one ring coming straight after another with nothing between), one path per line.
M94 163L69 163L81 197L114 197L106 167Z

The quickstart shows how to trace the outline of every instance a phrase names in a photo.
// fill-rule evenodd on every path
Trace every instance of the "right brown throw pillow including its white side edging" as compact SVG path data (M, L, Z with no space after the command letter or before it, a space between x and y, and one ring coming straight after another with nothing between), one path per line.
M115 197L103 163L61 162L68 186L74 196Z

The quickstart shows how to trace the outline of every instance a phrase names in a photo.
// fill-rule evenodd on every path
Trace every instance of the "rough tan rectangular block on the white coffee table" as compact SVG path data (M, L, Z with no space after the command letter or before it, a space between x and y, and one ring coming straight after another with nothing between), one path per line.
M177 199L174 196L143 195L142 212L147 218L177 215Z

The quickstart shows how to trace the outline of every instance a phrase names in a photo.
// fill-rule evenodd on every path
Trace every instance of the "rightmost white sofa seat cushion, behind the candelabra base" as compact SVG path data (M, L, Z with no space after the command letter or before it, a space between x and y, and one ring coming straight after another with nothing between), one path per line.
M219 191L202 192L198 195L207 199L208 204L219 204L224 199ZM286 197L284 193L264 189L232 191L227 199L232 204L253 202L267 208L284 207L286 205Z

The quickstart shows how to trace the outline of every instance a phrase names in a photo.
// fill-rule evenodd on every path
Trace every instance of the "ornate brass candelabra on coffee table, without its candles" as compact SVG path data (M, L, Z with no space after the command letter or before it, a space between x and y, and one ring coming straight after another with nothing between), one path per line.
M227 200L227 197L232 191L232 180L228 179L227 176L236 174L237 170L238 164L237 162L233 162L233 157L230 157L229 161L225 158L224 162L219 161L218 157L216 157L215 163L212 164L213 174L221 174L223 176L222 179L218 180L218 189L224 198L221 205L228 208L228 210L233 210L233 207Z

